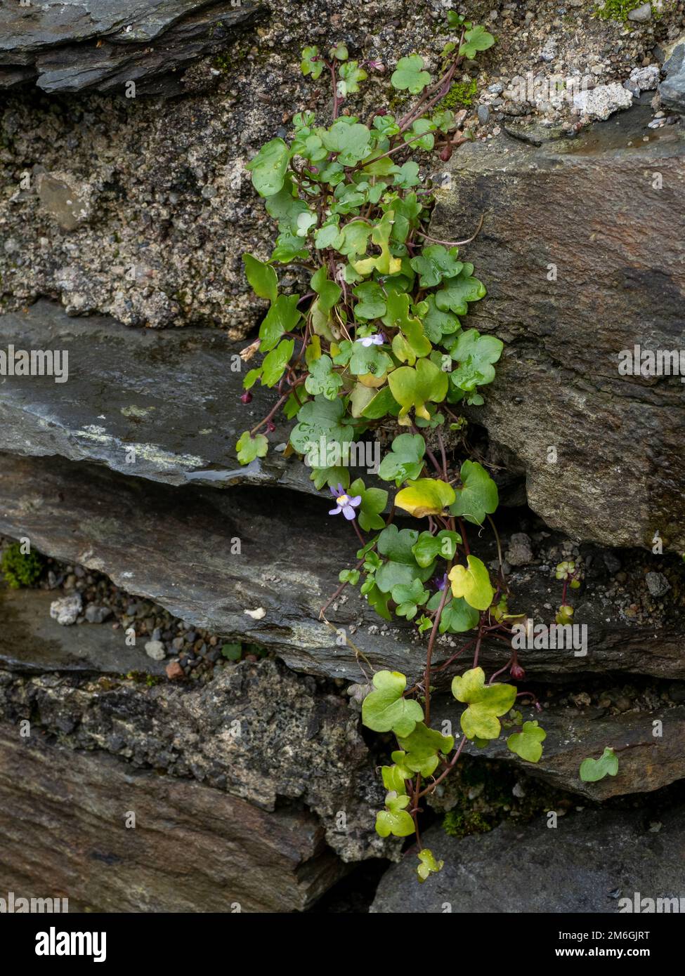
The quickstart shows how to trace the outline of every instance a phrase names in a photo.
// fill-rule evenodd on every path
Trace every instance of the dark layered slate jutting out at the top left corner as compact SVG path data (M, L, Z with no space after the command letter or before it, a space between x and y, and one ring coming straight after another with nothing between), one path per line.
M143 93L177 94L183 89L173 72L221 51L258 14L248 0L7 4L0 9L0 88L32 82L45 92L118 93L133 81Z

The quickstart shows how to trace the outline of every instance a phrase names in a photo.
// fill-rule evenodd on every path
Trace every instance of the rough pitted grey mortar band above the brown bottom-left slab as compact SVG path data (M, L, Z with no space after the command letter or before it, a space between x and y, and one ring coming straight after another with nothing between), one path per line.
M0 671L0 713L14 724L30 717L72 749L192 777L265 810L301 801L345 861L392 850L373 828L383 790L358 716L275 661L227 668L200 689Z

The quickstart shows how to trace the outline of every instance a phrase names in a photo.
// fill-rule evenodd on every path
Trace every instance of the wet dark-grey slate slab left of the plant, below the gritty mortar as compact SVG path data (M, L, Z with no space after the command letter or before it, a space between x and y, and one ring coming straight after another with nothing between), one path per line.
M240 466L235 442L265 417L274 391L257 386L240 402L249 368L217 329L130 329L101 316L69 318L38 302L0 316L0 347L68 356L68 379L3 377L0 449L62 454L168 484L282 485L316 492L310 470L278 451ZM64 366L63 366L64 368ZM286 442L289 425L270 435Z

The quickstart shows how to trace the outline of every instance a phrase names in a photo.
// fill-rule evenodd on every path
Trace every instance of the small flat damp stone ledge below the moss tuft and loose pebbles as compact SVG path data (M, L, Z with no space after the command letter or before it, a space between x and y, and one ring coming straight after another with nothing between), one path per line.
M76 671L161 674L141 646L128 647L122 630L71 627L50 616L52 594L38 590L0 590L0 663L13 671ZM86 608L86 619L91 607ZM103 609L102 607L97 609Z

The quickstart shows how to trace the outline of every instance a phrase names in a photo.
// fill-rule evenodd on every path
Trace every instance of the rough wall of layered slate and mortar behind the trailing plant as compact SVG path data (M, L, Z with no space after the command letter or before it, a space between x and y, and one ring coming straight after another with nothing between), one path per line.
M70 379L0 382L0 532L62 561L50 593L0 591L0 887L40 881L77 911L306 911L356 864L401 856L373 830L391 745L364 739L359 699L369 663L415 679L423 655L410 628L379 626L356 593L321 619L357 542L326 522L308 472L278 450L287 425L269 461L237 465L235 435L267 402L258 390L238 400L238 352L264 311L240 256L264 257L272 237L244 166L295 111L329 109L322 82L299 73L305 44L344 40L380 63L355 105L365 117L388 104L400 57L419 51L437 67L445 7L34 7L28 19L0 11L0 346L65 349ZM562 810L591 809L569 816L561 844L539 821L513 822L509 803L512 822L487 837L455 840L437 824L436 853L455 867L412 891L411 911L439 899L516 911L540 850L576 893L543 885L533 910L614 911L594 875L578 882L588 858L606 854L595 880L610 891L668 888L677 877L656 860L682 847L676 800L663 835L644 830L685 778L682 387L622 377L616 360L682 340L683 137L668 113L683 11L623 23L572 0L563 16L551 2L464 13L487 20L497 45L452 93L466 99L454 107L473 142L447 164L423 162L440 187L431 234L468 237L484 217L464 253L490 298L465 324L498 335L505 354L470 420L518 506L499 526L511 609L548 619L553 567L576 558L589 634L586 655L525 656L547 729L539 765L501 744L464 752L473 768L515 776L516 799L551 791ZM589 80L582 99L550 96L559 73ZM632 102L620 124L578 135ZM497 565L493 542L484 552ZM172 630L152 629L152 654L124 642L118 619L48 620L55 591L80 593L89 573L261 657L213 651L194 671L203 652L180 654ZM455 649L450 635L437 645L441 690ZM484 641L486 667L507 657ZM435 709L453 718L440 694ZM621 750L621 777L581 783L580 759L606 745ZM462 802L448 783L433 815ZM505 887L470 891L469 872L501 872L513 845L523 857ZM637 846L644 856L622 870ZM404 911L406 874L391 868L372 911Z

